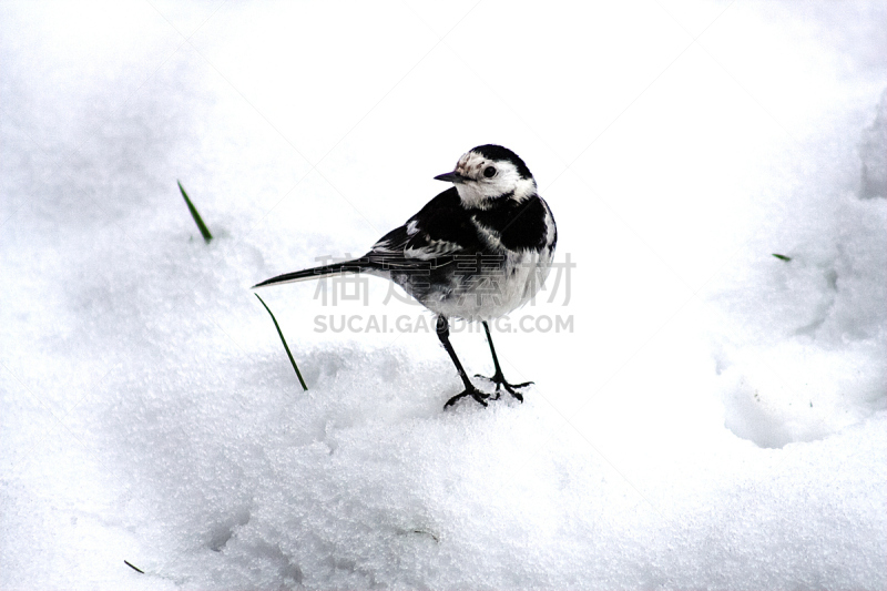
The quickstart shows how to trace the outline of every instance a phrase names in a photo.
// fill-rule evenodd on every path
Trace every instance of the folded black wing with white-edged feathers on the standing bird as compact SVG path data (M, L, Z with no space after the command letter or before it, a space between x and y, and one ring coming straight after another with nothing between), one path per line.
M452 187L383 236L367 257L388 268L428 268L450 264L458 256L475 255L480 248L477 226Z

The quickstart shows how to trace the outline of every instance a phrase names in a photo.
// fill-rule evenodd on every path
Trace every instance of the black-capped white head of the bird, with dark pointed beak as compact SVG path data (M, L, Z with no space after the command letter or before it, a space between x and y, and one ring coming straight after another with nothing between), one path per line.
M501 145L479 145L456 163L452 172L435 176L456 185L467 207L486 210L496 200L521 202L536 194L530 169L514 152Z

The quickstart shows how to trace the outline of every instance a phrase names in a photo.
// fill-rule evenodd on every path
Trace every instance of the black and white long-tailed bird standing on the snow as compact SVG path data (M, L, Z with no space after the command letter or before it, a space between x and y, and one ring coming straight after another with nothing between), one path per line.
M483 378L523 401L496 356L488 320L524 305L548 276L558 230L537 192L527 164L500 145L480 145L463 154L452 172L435 176L453 186L432 198L406 224L383 236L363 257L272 277L253 287L316 279L339 273L369 273L395 282L437 314L437 335L452 359L465 390L445 408L479 390L449 340L449 318L483 323L496 373Z

